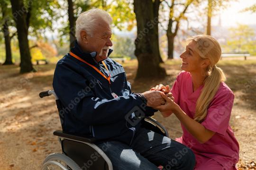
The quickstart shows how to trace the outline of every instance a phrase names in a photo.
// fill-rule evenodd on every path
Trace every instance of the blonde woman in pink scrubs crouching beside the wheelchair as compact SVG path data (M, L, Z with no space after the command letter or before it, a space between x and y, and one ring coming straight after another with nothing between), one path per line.
M216 66L220 55L214 38L194 36L180 56L183 71L172 89L168 85L152 88L169 93L162 93L166 102L155 109L164 117L174 113L180 120L183 136L176 141L195 153L195 170L236 170L239 159L238 141L229 126L234 94Z

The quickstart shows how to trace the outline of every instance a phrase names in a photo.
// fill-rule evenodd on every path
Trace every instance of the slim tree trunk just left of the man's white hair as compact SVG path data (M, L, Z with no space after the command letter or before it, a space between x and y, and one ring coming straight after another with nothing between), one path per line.
M73 1L68 0L68 21L69 21L69 41L70 49L73 48L75 43L75 17L73 10Z

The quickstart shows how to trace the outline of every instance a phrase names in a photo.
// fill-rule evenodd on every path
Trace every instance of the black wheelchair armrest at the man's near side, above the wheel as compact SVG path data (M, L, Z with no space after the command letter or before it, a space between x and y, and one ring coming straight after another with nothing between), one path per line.
M66 139L81 141L81 142L88 142L88 143L95 143L97 141L94 137L82 137L82 136L75 136L71 134L64 133L62 130L56 130L54 131L55 136L64 137Z

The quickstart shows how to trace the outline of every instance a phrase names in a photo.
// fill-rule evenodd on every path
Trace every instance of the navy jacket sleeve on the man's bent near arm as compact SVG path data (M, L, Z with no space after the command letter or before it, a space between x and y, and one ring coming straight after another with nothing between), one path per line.
M145 105L142 96L135 93L111 100L97 97L88 80L65 63L57 64L53 87L64 110L87 125L115 123Z

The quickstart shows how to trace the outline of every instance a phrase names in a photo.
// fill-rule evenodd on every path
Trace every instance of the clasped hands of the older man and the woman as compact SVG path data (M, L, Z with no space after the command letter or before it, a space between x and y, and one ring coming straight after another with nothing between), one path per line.
M177 104L174 102L173 94L169 85L156 85L150 91L142 93L147 100L147 106L161 112L172 112Z

